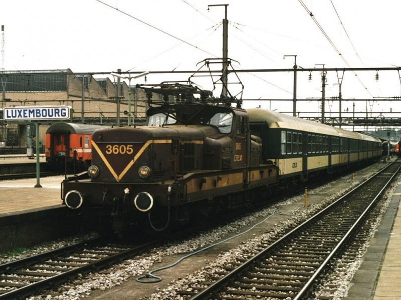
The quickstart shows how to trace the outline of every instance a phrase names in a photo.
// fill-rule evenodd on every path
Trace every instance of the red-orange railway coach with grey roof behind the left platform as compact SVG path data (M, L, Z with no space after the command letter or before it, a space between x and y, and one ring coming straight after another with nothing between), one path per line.
M92 133L109 126L57 122L46 131L46 161L58 166L74 163L89 166L92 160Z

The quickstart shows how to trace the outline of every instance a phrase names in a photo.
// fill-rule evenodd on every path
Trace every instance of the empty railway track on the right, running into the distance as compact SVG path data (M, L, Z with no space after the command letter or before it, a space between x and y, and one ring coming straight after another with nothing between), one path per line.
M192 286L191 300L303 299L333 258L343 253L399 171L394 161L246 261L227 267L209 286Z

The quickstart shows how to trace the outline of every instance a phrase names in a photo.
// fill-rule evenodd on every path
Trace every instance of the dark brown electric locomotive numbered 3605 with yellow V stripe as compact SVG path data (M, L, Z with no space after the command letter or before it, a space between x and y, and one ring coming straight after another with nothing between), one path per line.
M278 183L279 168L262 163L262 140L239 104L193 84L140 87L148 125L94 132L89 178L62 182L66 206L115 231L143 223L162 230L242 207Z

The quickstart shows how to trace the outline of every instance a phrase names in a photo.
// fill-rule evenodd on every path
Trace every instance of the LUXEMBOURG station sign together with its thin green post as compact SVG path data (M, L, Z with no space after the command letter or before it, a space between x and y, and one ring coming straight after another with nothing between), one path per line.
M39 120L69 119L71 106L67 105L37 105L37 106L15 106L4 108L4 120L37 120L36 124L36 184L40 184L40 146L39 146Z

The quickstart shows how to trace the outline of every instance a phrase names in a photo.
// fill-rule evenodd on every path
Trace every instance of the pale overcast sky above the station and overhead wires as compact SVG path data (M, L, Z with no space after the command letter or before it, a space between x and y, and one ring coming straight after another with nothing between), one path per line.
M5 25L1 67L75 72L194 70L197 62L222 56L224 7L208 11L208 4L229 4L229 57L240 63L235 67L292 68L293 57L283 59L283 55L293 54L304 68L401 65L399 0L13 0L0 4L0 23ZM401 96L398 72L378 73L376 81L375 71L345 72L342 96L350 100L343 109L352 110L352 98ZM312 72L310 81L308 75L298 73L298 98L321 97L320 74ZM244 98L292 98L292 72L239 76ZM150 74L147 82L187 77ZM210 81L204 81L201 85L212 89ZM338 95L336 83L336 73L329 72L326 97ZM219 95L221 87L217 89ZM258 104L279 111L292 109L291 102L282 101L244 106ZM370 104L369 111L400 107L395 101ZM319 110L317 101L298 105L300 110L305 105ZM336 105L326 104L326 111L338 110ZM365 111L366 103L357 105L358 111Z

